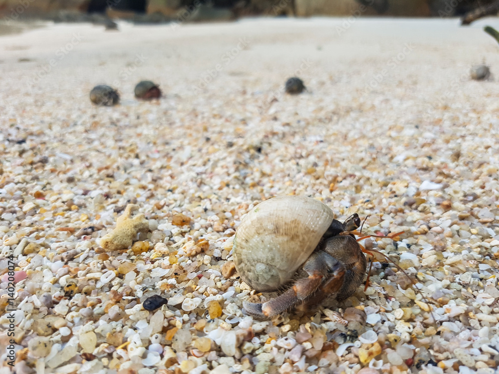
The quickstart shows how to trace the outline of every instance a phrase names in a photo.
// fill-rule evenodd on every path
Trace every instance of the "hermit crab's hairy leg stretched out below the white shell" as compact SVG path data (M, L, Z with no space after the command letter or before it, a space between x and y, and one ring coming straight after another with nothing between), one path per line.
M308 273L307 278L298 279L286 292L266 303L246 303L245 310L255 316L276 316L313 295L324 279L329 277L330 272L336 271L340 266L341 264L327 253L317 251L303 265L303 270Z

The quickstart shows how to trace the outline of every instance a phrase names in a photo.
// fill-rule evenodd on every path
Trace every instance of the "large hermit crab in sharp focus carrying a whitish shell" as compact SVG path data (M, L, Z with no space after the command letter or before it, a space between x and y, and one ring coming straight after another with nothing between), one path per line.
M258 292L285 290L263 304L245 303L248 314L306 311L330 296L341 301L355 293L367 264L354 236L360 218L353 214L342 223L333 216L327 205L304 196L270 198L248 212L234 239L236 270Z

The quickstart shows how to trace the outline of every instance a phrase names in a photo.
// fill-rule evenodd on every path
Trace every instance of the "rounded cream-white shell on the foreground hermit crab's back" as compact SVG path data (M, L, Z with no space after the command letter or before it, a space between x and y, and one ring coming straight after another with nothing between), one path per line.
M308 259L333 218L327 205L310 197L260 202L236 231L234 263L242 280L257 291L278 290Z

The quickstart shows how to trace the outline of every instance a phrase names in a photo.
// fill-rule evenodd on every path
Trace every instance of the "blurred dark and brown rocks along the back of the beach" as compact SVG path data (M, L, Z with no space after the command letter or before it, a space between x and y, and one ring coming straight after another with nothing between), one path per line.
M498 0L0 0L0 19L221 21L245 16L452 17Z

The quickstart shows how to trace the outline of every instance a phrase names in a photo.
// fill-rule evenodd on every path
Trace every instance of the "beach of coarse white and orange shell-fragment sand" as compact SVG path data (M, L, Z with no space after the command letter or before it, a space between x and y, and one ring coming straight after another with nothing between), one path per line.
M0 36L0 374L497 373L499 45L484 25L499 20ZM472 80L477 64L491 78ZM305 92L284 92L292 76ZM163 97L137 100L141 80ZM98 84L120 104L93 105ZM248 316L244 301L274 295L227 265L234 234L280 195L404 231L361 243L416 285L378 258L345 301ZM131 206L133 246L103 248ZM154 295L167 304L145 310Z

